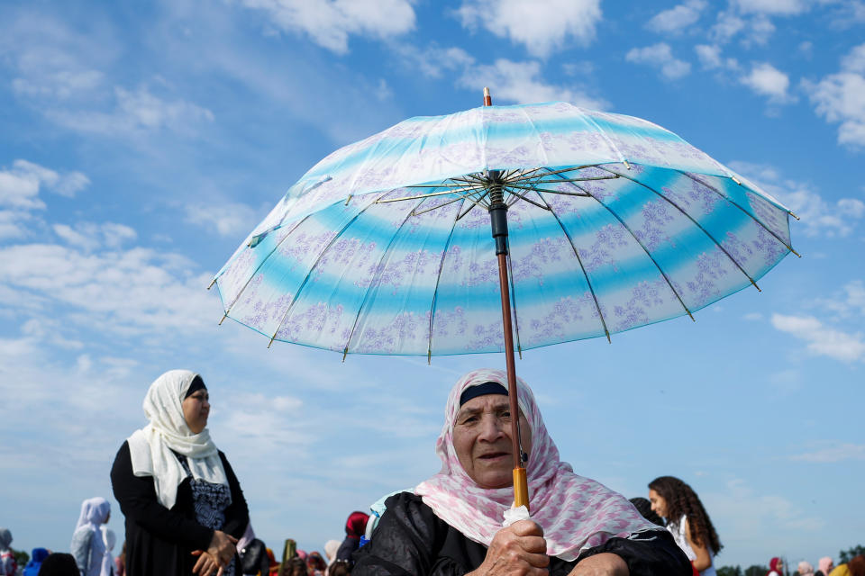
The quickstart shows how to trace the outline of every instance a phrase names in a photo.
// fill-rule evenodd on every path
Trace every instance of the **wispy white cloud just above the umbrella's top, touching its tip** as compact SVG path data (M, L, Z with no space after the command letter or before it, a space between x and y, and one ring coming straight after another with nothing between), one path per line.
M543 81L541 63L512 62L497 59L492 65L467 67L459 84L479 91L484 86L492 90L494 103L537 103L562 100L593 110L604 109L607 103L577 88L551 85Z

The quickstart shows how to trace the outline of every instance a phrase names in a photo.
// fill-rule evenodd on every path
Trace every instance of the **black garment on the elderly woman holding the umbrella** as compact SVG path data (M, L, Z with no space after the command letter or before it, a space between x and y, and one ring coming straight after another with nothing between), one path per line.
M351 576L461 576L484 562L480 545L435 516L420 496L400 492L385 501L387 510L369 541L354 554ZM620 556L631 576L690 576L691 564L667 530L630 538L610 538L577 560L550 559L551 576L567 576L584 558L604 552Z

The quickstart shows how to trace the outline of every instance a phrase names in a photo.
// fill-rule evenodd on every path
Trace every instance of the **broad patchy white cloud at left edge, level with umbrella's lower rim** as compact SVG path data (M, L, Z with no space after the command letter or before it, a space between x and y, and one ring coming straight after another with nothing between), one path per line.
M68 322L131 336L200 329L218 316L218 305L205 292L208 276L190 272L194 266L185 258L143 247L81 250L88 239L74 229L63 231L77 244L0 248L7 305L30 302L42 314L54 314L51 307L63 304Z

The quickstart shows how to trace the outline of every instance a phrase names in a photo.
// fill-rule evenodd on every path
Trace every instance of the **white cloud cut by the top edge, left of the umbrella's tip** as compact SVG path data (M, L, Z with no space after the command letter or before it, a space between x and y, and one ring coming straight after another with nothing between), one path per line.
M278 28L308 35L337 54L349 51L349 36L387 39L414 29L409 0L242 0L262 10Z

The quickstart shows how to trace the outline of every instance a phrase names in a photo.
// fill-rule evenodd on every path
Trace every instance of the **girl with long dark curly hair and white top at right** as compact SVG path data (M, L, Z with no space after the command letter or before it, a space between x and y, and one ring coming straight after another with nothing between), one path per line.
M716 576L715 554L724 546L697 493L678 478L660 476L649 482L649 501L700 576Z

